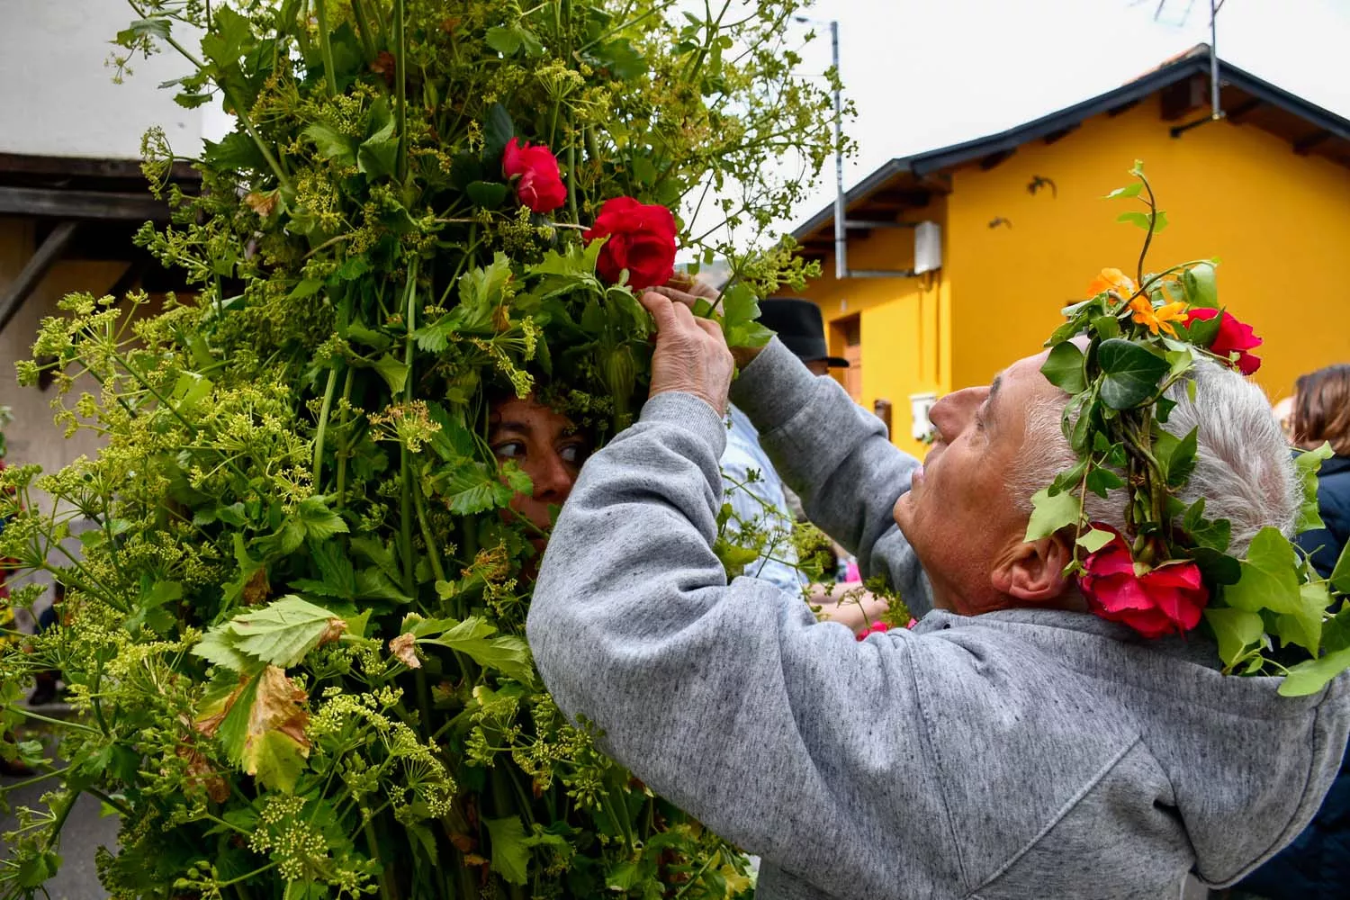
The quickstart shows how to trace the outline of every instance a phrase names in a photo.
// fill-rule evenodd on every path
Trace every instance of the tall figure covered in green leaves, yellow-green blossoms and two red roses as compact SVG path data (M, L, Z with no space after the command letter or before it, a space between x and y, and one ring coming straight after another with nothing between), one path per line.
M193 66L178 103L238 127L196 161L200 193L158 182L174 224L139 237L200 294L70 297L20 366L108 444L3 476L0 556L68 599L0 657L0 727L39 669L81 715L0 895L40 891L81 792L123 816L116 897L744 889L738 854L543 690L521 634L544 536L486 439L510 397L591 441L632 420L632 291L678 240L732 259L741 343L756 293L801 278L787 247L724 237L783 217L832 150L782 39L796 0L131 5L119 66L170 45ZM162 134L146 155L158 181Z

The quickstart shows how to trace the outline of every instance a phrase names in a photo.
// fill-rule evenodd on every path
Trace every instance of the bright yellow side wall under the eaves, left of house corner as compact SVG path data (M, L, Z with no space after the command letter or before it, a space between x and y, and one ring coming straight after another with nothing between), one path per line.
M942 219L941 198L925 210L905 216L906 221L934 220L940 224ZM876 229L867 237L849 239L850 269L906 270L913 264L913 229ZM910 394L933 391L941 395L949 390L950 281L938 271L918 278L850 278L840 282L834 279L833 255L821 267L822 277L813 281L802 296L821 308L832 341L830 354L844 355L832 325L856 314L863 356L859 402L872 410L878 399L888 399L891 441L922 457L926 445L911 437ZM838 370L834 375L844 381Z

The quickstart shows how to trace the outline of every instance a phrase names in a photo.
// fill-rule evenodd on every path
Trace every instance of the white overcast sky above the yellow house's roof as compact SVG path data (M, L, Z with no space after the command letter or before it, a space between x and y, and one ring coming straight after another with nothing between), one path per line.
M892 157L1002 131L1072 105L1210 39L1210 0L817 0L840 22L853 186ZM1189 12L1188 12L1189 9ZM799 26L803 30L807 26ZM803 72L830 63L828 26ZM1219 57L1350 117L1350 0L1224 0ZM830 202L824 173L796 221Z

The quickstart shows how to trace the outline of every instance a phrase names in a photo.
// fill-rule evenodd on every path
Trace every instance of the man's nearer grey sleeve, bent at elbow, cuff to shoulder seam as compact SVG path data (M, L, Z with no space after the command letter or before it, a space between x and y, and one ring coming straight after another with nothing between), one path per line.
M711 551L725 429L660 394L559 515L528 637L560 708L710 828L832 896L957 884L910 633L864 642Z

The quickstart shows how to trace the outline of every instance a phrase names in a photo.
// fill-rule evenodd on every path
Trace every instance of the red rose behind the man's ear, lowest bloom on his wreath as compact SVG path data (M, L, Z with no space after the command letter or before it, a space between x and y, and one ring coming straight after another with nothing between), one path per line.
M1210 591L1195 563L1164 563L1139 575L1119 532L1115 538L1083 561L1079 587L1088 609L1110 622L1129 625L1143 637L1189 631L1200 623Z

